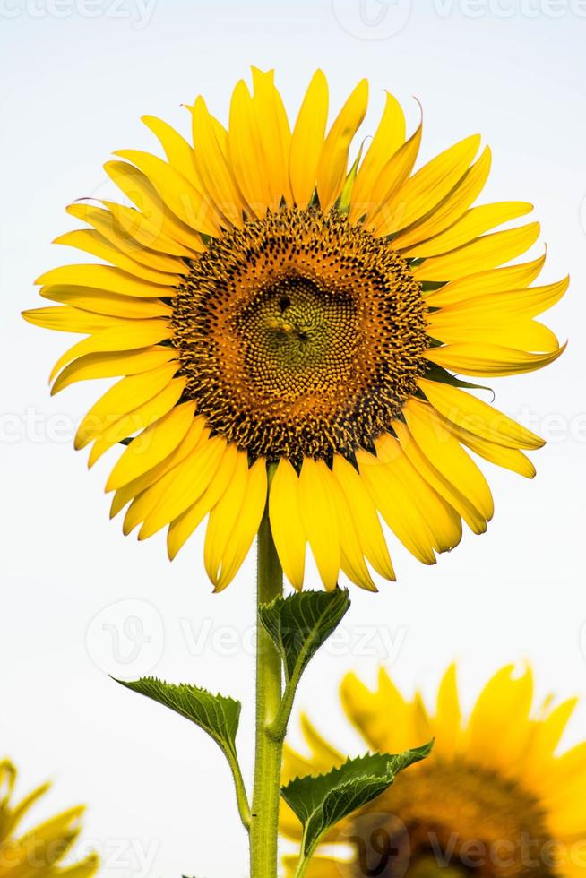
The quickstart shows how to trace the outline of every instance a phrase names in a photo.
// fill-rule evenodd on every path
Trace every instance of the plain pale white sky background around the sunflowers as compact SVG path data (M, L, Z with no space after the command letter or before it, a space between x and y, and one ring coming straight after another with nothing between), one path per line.
M329 76L334 108L366 75L369 132L384 89L409 108L412 125L416 96L424 159L482 133L495 156L487 200L535 203L546 280L566 271L573 278L571 294L547 317L570 338L564 357L496 387L502 409L549 439L535 455L538 478L492 471L488 534L468 534L435 568L393 544L399 583L383 584L377 596L352 591L345 639L315 660L298 704L356 752L337 703L350 668L374 681L385 662L407 690L419 684L430 695L457 658L470 704L500 664L530 660L539 697L586 695L585 16L578 0L435 0L417 8L405 0L0 0L0 752L22 766L22 792L56 779L47 807L89 803L85 837L108 874L247 874L220 754L107 671L153 672L242 698L248 776L254 559L214 597L201 536L171 565L162 535L138 544L108 521L103 484L113 455L88 475L86 453L73 452L71 441L99 387L79 384L49 398L47 373L68 340L19 317L41 304L32 281L69 260L49 244L75 226L65 204L109 192L101 166L110 151L151 148L143 113L187 133L180 105L202 92L225 119L230 90L251 64L277 68L291 112L316 66ZM116 606L127 598L130 605ZM134 664L116 664L116 630L121 656L140 648ZM584 737L582 704L567 740Z

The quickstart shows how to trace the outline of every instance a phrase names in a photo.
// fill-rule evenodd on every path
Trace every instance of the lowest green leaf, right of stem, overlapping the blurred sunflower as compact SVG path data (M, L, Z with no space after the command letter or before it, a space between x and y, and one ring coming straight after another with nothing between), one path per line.
M292 780L281 795L303 825L302 856L311 856L325 832L380 796L400 771L425 759L433 742L405 753L367 753L327 774Z

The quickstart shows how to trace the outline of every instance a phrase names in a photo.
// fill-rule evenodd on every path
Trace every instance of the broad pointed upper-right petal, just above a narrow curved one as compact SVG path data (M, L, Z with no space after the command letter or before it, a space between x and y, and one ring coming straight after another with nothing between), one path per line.
M479 134L467 137L409 177L383 205L376 235L390 235L407 228L431 211L466 173L479 145Z

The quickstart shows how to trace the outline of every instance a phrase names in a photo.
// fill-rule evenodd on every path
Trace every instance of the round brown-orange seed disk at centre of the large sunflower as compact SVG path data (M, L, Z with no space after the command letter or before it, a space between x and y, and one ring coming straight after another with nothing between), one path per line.
M173 307L186 395L253 459L372 448L425 371L420 285L336 211L283 209L213 241Z

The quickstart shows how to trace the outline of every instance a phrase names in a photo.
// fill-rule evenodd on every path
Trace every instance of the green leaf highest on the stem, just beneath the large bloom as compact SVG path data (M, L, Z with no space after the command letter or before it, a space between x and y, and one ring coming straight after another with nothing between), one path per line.
M348 612L348 591L302 591L259 609L263 628L280 651L287 680L298 681L307 664Z

